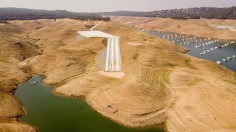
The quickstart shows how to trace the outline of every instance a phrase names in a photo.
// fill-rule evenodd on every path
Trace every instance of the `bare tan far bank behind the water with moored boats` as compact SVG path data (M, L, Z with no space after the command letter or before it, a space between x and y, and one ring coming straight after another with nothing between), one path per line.
M218 38L226 40L235 40L236 32L229 30L220 30L209 27L201 19L176 20L170 18L148 18L148 17L126 17L112 16L112 21L127 24L136 28L149 30L176 32L180 34L195 35L198 37ZM236 20L218 20L209 19L212 24L236 25Z

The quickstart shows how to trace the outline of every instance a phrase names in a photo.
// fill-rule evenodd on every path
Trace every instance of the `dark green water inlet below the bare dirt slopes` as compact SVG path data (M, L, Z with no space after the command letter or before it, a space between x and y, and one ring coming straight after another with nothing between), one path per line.
M119 125L101 116L82 99L53 94L51 87L42 84L43 79L34 75L15 92L28 113L20 120L41 132L164 132L159 128L133 129ZM33 81L37 83L30 84Z

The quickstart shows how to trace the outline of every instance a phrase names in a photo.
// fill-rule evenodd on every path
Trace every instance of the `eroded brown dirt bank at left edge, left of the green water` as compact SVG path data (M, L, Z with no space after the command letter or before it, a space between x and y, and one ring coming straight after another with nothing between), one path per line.
M31 68L20 61L38 55L39 48L22 36L22 29L16 25L2 24L0 31L0 131L36 131L17 122L25 113L13 93L30 77Z

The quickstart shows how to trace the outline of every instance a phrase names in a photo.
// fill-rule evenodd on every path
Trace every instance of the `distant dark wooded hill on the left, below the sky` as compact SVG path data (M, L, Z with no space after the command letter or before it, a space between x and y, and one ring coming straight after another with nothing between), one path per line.
M109 20L98 13L75 13L66 10L35 10L25 8L0 8L0 21L71 18L79 20Z

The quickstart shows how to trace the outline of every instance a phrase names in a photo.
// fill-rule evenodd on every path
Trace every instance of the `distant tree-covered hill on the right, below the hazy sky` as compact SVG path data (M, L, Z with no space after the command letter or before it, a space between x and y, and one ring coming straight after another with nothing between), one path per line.
M137 11L116 11L101 12L100 15L106 16L139 16L139 17L163 17L173 19L199 19L199 18L215 18L215 19L236 19L236 7L215 8L201 7L188 9L171 9L150 12Z

